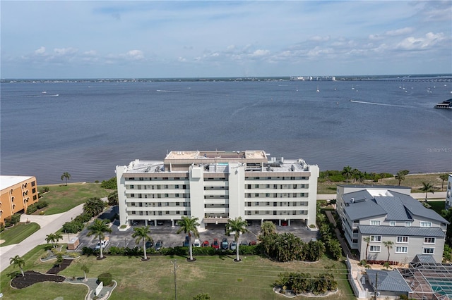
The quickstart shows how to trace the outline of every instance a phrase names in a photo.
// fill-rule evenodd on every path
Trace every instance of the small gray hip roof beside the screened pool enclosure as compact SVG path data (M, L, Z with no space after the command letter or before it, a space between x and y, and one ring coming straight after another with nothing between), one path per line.
M412 292L412 289L398 270L366 270L366 272L372 287L375 288L376 282L376 288L381 292Z

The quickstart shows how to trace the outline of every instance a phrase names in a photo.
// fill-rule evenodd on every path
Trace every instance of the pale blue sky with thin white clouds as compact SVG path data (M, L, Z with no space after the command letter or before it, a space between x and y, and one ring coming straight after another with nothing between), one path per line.
M4 1L1 78L452 73L452 1Z

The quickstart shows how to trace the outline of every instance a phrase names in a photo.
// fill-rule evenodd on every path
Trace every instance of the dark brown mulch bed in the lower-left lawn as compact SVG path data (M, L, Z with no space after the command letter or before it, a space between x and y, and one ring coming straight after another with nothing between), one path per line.
M55 275L60 271L69 267L72 263L72 259L64 259L61 263L61 268L57 265L56 267L47 271L47 274L42 274L36 271L27 271L23 275L17 275L11 280L11 286L16 287L16 289L23 289L24 287L30 287L37 282L53 281L53 282L64 282L66 277Z

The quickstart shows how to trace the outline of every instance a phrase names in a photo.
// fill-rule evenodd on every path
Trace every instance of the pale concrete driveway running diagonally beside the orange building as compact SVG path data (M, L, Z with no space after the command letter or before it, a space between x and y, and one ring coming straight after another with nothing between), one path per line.
M83 204L72 208L66 213L57 213L55 215L21 215L20 222L30 220L32 223L40 225L40 230L27 237L19 244L0 247L0 272L3 272L9 265L9 258L16 255L23 256L28 253L35 246L40 244L47 244L45 238L47 235L57 232L61 229L64 223L76 218L77 215L83 213ZM73 237L74 235L72 235ZM62 243L69 242L68 235L63 235Z

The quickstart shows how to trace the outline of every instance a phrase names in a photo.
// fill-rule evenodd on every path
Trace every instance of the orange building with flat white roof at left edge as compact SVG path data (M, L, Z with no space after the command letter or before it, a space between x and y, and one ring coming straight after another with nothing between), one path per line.
M38 201L35 176L0 175L0 223L14 213L25 213L28 206Z

